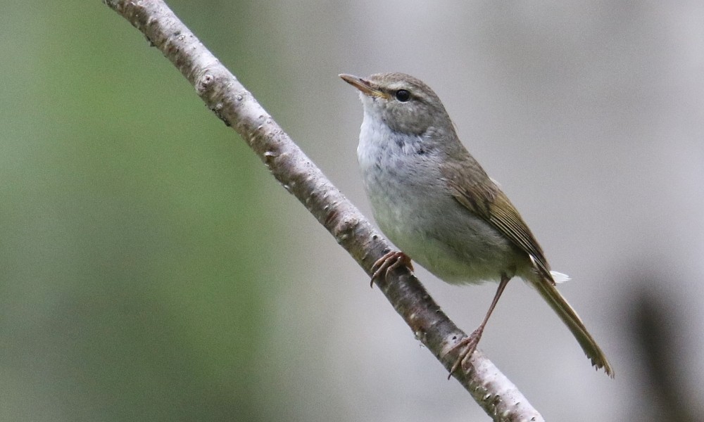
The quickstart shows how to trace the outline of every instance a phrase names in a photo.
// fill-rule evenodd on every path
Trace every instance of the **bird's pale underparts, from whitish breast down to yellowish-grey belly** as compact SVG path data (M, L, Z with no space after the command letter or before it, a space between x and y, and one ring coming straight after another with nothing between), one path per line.
M398 248L449 283L513 276L515 248L451 195L440 158L422 136L392 132L365 112L357 155L379 228ZM510 265L509 265L510 266Z

